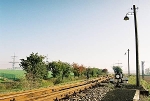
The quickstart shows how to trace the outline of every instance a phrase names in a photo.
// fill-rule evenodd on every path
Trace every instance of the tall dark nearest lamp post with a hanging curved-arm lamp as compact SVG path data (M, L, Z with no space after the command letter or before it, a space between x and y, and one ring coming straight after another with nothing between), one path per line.
M138 31L137 31L137 20L136 20L136 9L133 5L133 12L129 12L124 17L124 20L129 20L127 15L134 15L134 25L135 25L135 46L136 46L136 86L140 86L140 71L139 71L139 52L138 52Z

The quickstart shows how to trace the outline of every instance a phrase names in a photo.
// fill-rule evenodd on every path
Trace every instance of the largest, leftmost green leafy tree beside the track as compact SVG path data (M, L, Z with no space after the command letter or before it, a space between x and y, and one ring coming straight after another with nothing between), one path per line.
M48 77L44 58L44 56L38 55L38 53L32 53L27 59L20 59L21 62L19 65L26 71L26 78L28 80L46 79Z

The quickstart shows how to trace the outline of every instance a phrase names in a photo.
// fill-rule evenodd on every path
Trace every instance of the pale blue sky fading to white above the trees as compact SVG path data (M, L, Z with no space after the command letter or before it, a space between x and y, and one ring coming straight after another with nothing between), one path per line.
M48 61L107 68L122 63L136 70L134 16L137 9L139 64L150 67L149 0L0 0L0 69L12 68L32 52ZM19 64L15 64L19 66ZM141 68L141 67L140 67Z

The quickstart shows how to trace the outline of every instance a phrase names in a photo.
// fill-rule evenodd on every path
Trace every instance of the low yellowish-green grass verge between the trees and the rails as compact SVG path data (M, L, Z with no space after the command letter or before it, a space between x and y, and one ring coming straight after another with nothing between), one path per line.
M31 83L26 78L20 78L19 81L5 81L0 83L0 93L10 93L10 92L18 92L18 91L25 91L30 89L37 89L37 88L43 88L43 87L49 87L54 86L54 82L56 82L57 78L50 78L47 80L41 80L40 84L32 86ZM63 81L61 81L60 84L66 84L71 82L78 82L80 79L68 79L65 78ZM38 82L37 82L38 83Z

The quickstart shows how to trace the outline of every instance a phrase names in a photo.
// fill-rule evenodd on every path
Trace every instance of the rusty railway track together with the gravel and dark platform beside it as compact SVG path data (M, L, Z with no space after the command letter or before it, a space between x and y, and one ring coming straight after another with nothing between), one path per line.
M109 83L113 76L102 76L76 84L67 84L0 96L0 101L148 101L140 95L142 86Z

